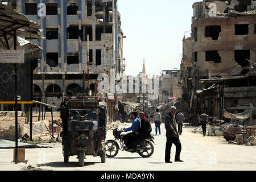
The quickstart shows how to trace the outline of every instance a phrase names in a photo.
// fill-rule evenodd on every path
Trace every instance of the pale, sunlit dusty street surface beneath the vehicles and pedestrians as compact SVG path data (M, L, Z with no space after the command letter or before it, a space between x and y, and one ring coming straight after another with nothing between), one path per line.
M191 133L195 127L184 127L180 137L182 144L180 158L184 160L184 163L174 162L175 146L173 146L171 160L174 163L166 164L164 163L166 145L164 125L161 125L161 129L162 135L155 136L155 152L146 159L141 158L138 154L119 151L115 158L106 158L106 163L101 163L100 157L86 156L85 166L77 167L76 156L69 158L68 164L63 162L61 143L56 143L54 148L26 149L26 160L33 167L55 171L255 171L256 169L256 146L228 144L222 137L203 137L200 134ZM152 125L152 130L154 134L154 125ZM108 131L108 139L113 139L111 130ZM12 164L12 160L13 149L0 150L0 170L24 169L20 168L22 164ZM42 163L46 163L46 165Z

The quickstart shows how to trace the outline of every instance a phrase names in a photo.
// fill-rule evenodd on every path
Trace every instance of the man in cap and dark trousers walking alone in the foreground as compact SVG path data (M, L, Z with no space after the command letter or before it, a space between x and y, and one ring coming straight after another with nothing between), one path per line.
M180 160L181 143L179 135L177 134L177 123L175 119L176 110L177 109L175 106L171 106L164 122L166 127L166 163L172 163L170 161L172 143L174 143L176 146L175 162L183 162L183 160Z

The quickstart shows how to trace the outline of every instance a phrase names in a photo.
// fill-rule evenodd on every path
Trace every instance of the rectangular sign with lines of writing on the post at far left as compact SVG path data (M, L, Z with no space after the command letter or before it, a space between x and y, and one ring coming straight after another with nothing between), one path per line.
M24 50L0 50L0 63L6 64L24 64Z

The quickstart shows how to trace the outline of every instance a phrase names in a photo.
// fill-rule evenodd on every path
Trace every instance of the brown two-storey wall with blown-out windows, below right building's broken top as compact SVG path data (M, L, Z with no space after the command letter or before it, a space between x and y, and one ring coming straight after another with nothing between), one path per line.
M246 24L248 27L247 34L245 32L243 33L245 35L236 35L237 28L240 28L240 25ZM201 76L207 76L207 69L208 73L212 75L221 72L225 72L225 75L241 75L241 68L249 64L245 59L256 60L255 24L256 14L193 20L192 28L197 27L198 34L197 42L193 43L192 52L197 52L197 65ZM214 39L210 35L213 35ZM209 54L210 52L208 51L217 51L217 53ZM239 51L240 53L236 53ZM215 56L217 54L220 58ZM233 69L226 71L226 69L234 67L237 64L240 65L235 69L239 69L240 71L236 72Z

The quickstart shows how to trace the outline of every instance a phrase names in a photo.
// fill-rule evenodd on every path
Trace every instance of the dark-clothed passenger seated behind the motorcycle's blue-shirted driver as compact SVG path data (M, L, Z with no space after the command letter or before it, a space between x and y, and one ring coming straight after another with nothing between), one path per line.
M140 112L139 113L139 118L141 118L141 129L139 129L135 133L135 139L136 139L136 142L137 142L137 148L141 147L141 142L139 141L139 139L149 137L150 133L152 131L151 124L148 121L148 119L146 118L145 113Z

